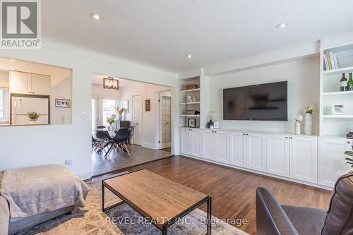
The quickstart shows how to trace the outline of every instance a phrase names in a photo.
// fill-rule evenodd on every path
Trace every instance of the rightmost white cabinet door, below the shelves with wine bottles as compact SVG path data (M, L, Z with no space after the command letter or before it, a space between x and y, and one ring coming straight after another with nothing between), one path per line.
M352 151L352 140L318 140L318 183L333 187L338 177L350 168L345 151Z

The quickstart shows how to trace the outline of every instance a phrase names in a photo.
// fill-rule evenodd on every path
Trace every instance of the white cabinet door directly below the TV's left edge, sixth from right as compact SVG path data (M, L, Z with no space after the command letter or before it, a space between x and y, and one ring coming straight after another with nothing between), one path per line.
M228 162L228 140L229 132L227 131L214 131L214 145L215 145L215 160L218 162Z

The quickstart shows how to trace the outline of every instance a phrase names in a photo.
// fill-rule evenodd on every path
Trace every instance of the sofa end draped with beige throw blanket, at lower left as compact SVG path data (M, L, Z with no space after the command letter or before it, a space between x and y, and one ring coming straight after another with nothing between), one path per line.
M56 174L56 175L57 174L62 174L63 175L63 178L64 178L63 181L64 182L65 182L65 178L67 179L69 177L72 177L72 178L76 177L76 181L80 181L80 179L78 179L77 176L74 175L73 173L72 173L72 176L70 176L71 171L68 172L68 169L66 169L66 168L64 169L64 167L61 169L60 166L58 167L58 165L49 165L49 167L50 166L52 166L52 167L54 167L54 169L56 169L56 171L52 172L53 174ZM38 167L38 169L39 169L38 171L40 171L40 170L45 171L46 169L44 169L44 167L47 167L47 166L41 166L41 167L42 168ZM31 171L33 169L35 169L35 168L32 167ZM23 169L20 169L19 171L16 171L16 175L18 174L18 172L22 173L22 170ZM53 168L49 169L49 170L53 171ZM56 180L55 179L54 180L53 179L49 179L50 178L49 175L37 176L38 181L41 181L41 180L46 179L46 178L48 178L48 182L49 182L50 185L68 184L68 187L74 188L73 185L70 185L70 183L63 183L63 181L59 181L58 179L56 179ZM0 172L0 189L4 189L5 188L5 183L4 183L5 180L4 179L5 179L4 174ZM4 180L4 181L2 181L2 180ZM70 180L72 181L72 179L70 179ZM23 181L25 181L25 180L23 180ZM71 181L69 181L69 182L71 182ZM1 183L2 183L2 186L1 186ZM88 193L88 186L86 186L85 183L83 183L83 181L80 181L80 183L82 183L82 191L78 192L78 190L76 189L76 191L73 192L73 195L81 193L81 195L83 194L83 198L85 199L85 196ZM20 183L18 183L18 184L20 184ZM16 183L13 183L13 185L16 185ZM37 185L38 185L38 183L37 183ZM23 188L25 186L21 185L21 187ZM35 188L34 186L30 186L30 187ZM52 194L52 192L50 192L51 188L48 187L48 185L43 186L43 187L44 188L38 187L36 189L38 191L42 191L42 193L49 191L49 194L50 195ZM63 186L60 186L60 187L63 188ZM52 190L56 191L58 188L60 189L60 187L58 186L58 187L55 188L53 186ZM64 191L65 190L66 190L66 188L64 188ZM3 192L3 194L1 194L1 191ZM23 190L23 191L21 191L21 193L26 192L26 191L27 192L31 192L31 190ZM67 193L67 191L65 191L65 192ZM43 208L44 210L41 210L40 212L37 212L37 213L32 213L32 215L29 215L29 216L11 217L11 211L12 212L14 211L13 207L12 207L12 210L11 210L11 203L13 203L13 201L8 200L9 199L8 195L5 195L5 194L6 193L4 193L4 190L0 190L0 215L1 215L0 216L0 235L15 234L18 231L22 231L24 229L29 229L30 227L34 227L37 224L45 222L45 221L47 221L49 219L53 219L54 217L58 217L59 215L68 214L68 213L70 213L73 210L75 205L83 206L82 205L82 200L81 200L81 203L69 202L68 205L63 206L63 207L57 207L57 206L56 207L48 207L47 206L47 207ZM35 193L34 193L34 195L35 195ZM21 196L23 197L23 195L21 195ZM28 195L28 196L30 196L30 195ZM23 197L23 198L28 198L28 197L26 195L26 197ZM18 203L18 198L14 199L14 201L16 203ZM84 201L83 201L83 203L84 203ZM64 205L64 204L61 204L61 205Z

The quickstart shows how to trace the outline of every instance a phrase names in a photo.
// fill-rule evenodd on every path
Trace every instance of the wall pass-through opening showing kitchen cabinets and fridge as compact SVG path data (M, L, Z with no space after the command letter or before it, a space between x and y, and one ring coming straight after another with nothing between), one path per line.
M71 124L72 70L0 57L0 126Z

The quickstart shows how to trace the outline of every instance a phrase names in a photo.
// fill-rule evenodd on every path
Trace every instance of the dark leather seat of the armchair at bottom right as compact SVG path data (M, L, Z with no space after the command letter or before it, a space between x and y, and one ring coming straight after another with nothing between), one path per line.
M321 234L326 210L294 205L281 206L299 234Z

